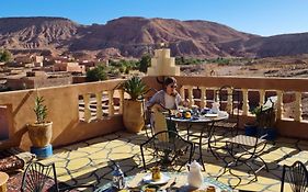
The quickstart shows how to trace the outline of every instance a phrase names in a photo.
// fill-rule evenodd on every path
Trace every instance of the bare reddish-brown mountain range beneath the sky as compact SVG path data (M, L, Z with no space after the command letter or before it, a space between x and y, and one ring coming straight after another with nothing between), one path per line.
M65 18L1 18L0 47L11 52L140 57L160 43L172 56L273 57L308 53L308 33L260 36L208 21L126 16L82 25Z

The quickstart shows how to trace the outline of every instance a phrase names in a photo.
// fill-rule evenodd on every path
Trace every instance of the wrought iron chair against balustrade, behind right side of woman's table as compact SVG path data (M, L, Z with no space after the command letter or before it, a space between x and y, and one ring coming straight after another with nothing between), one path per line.
M231 131L231 135L238 135L239 127L239 112L241 108L240 101L240 91L230 87L224 86L216 91L215 100L219 102L220 111L227 111L229 113L229 118L215 123L216 127L228 128L228 132Z

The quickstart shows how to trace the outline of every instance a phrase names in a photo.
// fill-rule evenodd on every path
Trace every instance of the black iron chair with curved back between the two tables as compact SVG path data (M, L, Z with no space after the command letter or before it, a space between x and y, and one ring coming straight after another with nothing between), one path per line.
M140 145L144 169L159 166L162 170L180 171L186 162L191 162L194 145L182 138L176 132L162 131ZM149 163L146 162L146 156Z

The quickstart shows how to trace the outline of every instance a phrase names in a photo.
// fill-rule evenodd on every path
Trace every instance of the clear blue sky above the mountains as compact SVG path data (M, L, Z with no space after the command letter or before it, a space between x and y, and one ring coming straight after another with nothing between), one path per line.
M0 18L62 16L104 24L121 16L206 20L259 35L308 32L308 0L0 0Z

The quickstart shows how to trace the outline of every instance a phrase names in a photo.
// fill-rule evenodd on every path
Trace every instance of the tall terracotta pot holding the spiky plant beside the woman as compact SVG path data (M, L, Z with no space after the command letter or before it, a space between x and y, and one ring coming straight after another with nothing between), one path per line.
M141 101L124 100L123 123L128 132L138 133L145 126L144 108Z

